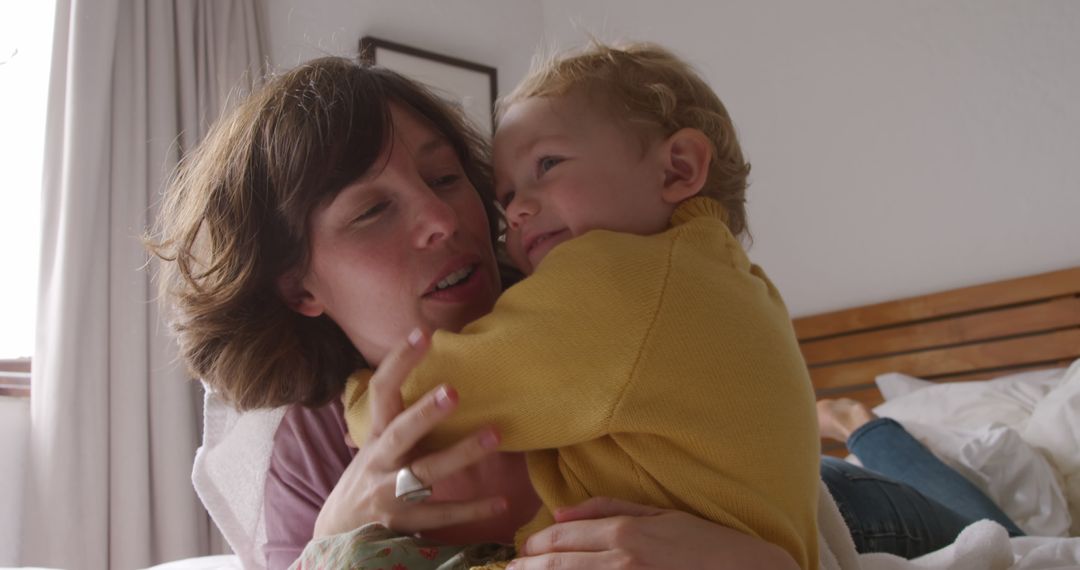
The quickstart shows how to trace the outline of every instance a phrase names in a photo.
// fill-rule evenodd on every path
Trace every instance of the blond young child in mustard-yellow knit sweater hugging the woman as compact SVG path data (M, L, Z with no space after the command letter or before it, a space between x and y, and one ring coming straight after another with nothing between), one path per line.
M650 44L549 62L503 103L495 167L529 276L434 335L403 397L446 383L461 406L427 444L494 424L527 452L543 506L518 546L554 508L606 496L816 568L814 398L780 294L737 239L750 165L713 91ZM356 443L369 376L345 395Z

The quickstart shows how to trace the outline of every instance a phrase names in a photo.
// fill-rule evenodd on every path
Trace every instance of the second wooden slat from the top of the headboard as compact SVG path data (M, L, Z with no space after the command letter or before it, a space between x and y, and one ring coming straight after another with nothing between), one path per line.
M947 321L811 340L801 345L810 366L949 347L1080 326L1080 297L1062 297Z

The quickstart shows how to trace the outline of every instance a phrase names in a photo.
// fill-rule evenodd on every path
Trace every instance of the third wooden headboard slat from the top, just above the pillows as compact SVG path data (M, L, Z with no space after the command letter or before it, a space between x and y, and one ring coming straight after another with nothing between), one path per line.
M810 377L814 388L820 391L866 384L876 376L890 371L936 378L1077 357L1080 357L1080 328L1071 328L978 344L811 367Z

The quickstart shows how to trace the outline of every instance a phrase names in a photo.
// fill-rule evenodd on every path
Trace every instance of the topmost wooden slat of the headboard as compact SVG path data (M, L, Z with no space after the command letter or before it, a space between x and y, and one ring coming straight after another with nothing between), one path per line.
M926 321L995 307L1065 297L1080 291L1080 268L975 285L795 320L800 340L850 334L895 323Z

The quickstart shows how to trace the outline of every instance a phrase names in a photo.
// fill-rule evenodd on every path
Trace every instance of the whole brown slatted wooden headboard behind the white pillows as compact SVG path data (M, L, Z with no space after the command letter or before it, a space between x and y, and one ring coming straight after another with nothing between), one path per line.
M1080 358L1080 267L796 318L795 332L818 397L868 406L885 372L962 381L1066 366Z

